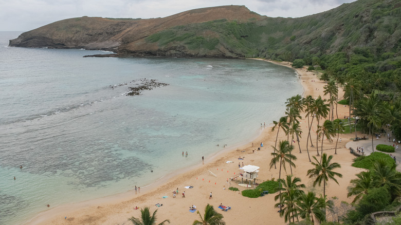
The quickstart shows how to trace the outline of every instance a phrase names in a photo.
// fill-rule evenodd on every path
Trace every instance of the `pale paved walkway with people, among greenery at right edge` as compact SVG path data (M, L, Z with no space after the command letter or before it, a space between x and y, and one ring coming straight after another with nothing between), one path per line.
M387 145L394 144L394 147L396 147L397 144L399 145L398 149L395 149L394 153L385 153L385 154L387 154L387 155L392 154L393 156L395 156L395 160L397 163L396 169L397 169L397 171L401 172L401 144L399 144L397 142L392 142L392 141L389 142L388 139L386 139L385 137L373 139L373 147L375 149L375 152L380 152L380 151L376 150L376 145L378 145L378 144L387 144ZM356 151L357 147L363 147L363 153L364 153L363 155L365 155L365 156L368 156L373 152L371 137L369 137L368 140L349 141L347 144L345 144L345 147L347 147L348 149L350 147L352 147L354 149L354 151Z

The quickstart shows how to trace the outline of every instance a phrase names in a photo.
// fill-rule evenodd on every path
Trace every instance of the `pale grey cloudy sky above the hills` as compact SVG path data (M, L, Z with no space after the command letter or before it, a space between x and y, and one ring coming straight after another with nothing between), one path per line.
M81 16L154 18L196 8L245 5L271 17L301 17L355 0L0 0L0 31L28 31Z

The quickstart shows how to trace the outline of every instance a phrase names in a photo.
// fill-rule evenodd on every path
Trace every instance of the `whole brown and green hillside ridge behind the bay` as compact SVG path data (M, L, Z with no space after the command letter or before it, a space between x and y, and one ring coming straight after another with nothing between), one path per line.
M71 18L25 32L10 46L104 49L118 55L262 57L292 61L368 48L401 51L401 3L359 0L301 18L272 18L245 6L195 9L164 18Z

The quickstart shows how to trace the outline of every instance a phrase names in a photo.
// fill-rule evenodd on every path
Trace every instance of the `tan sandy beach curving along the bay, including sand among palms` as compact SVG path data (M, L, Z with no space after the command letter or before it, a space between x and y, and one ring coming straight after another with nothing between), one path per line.
M282 66L290 67L289 63L277 63ZM300 82L304 88L303 97L311 95L316 98L319 95L323 99L328 98L323 96L324 83L319 81L314 72L307 71L306 68L296 69L299 74ZM342 99L342 92L339 93L339 98ZM283 112L284 113L284 112ZM348 106L339 105L338 116L343 118L348 115ZM279 118L275 118L278 120ZM335 118L336 119L336 118ZM156 181L146 188L141 188L140 191L135 190L110 196L100 199L60 205L58 207L49 208L44 206L44 212L37 217L27 221L27 224L131 224L127 219L134 216L140 217L140 210L135 210L135 207L150 207L151 213L157 210L158 222L165 219L171 221L170 224L192 224L195 219L199 219L197 213L191 213L189 207L196 205L200 213L204 214L205 206L209 203L214 206L219 213L224 216L226 224L285 224L284 218L277 213L278 209L274 207L275 194L267 194L259 198L247 198L239 192L228 190L230 186L243 191L247 188L238 185L241 181L231 180L230 178L242 172L239 170L240 165L256 165L259 166L258 183L261 183L272 178L278 179L279 169L269 169L271 160L270 153L275 145L277 129L271 132L272 121L263 121L266 123L262 126L262 134L244 146L230 148L222 147L220 153L212 157L205 157L204 163L202 158L199 158L199 163L191 168L178 171L174 174L169 174L162 179ZM316 131L316 123L314 122L313 130ZM300 140L301 151L296 145L293 154L297 156L295 161L296 168L293 168L294 176L300 177L302 183L306 185L305 191L315 191L317 194L323 193L323 188L312 186L313 180L308 179L306 171L313 168L313 165L308 160L306 152L306 137L307 137L307 118L302 115L301 120L302 138ZM311 134L313 133L311 130ZM347 198L347 186L351 179L354 179L355 174L360 173L363 169L351 166L352 159L355 157L350 154L350 151L345 148L345 144L351 141L355 134L340 135L341 142L337 146L337 155L335 152L335 140L332 143L323 142L323 152L328 155L333 155L333 161L338 162L341 168L335 170L343 175L342 178L337 178L339 184L334 181L329 181L326 186L326 194L329 197L337 197L338 202L351 202L352 198ZM279 140L286 140L283 132L279 133ZM312 135L312 140L316 142L316 135ZM263 147L258 151L260 143ZM310 145L310 143L309 143ZM316 145L316 144L315 144ZM309 154L316 156L316 147L309 147ZM320 152L320 145L319 145ZM239 160L241 157L243 160ZM320 158L317 157L318 159ZM312 159L313 160L313 159ZM228 162L230 161L230 162ZM216 176L214 176L214 175ZM289 167L287 172L282 171L282 177L290 174ZM141 186L141 184L133 184ZM193 186L186 189L185 186ZM173 191L178 188L179 194L173 198ZM253 187L252 187L253 188ZM185 191L185 198L181 193ZM209 195L212 193L212 198ZM168 196L163 198L163 196ZM162 206L157 207L155 204L160 203ZM231 209L224 212L217 209L220 204L230 206ZM331 221L331 218L328 218Z

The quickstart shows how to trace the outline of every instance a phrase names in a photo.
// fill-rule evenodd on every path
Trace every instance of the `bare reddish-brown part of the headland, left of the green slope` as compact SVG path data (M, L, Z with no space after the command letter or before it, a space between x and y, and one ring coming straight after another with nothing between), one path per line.
M34 48L83 48L108 50L116 57L225 57L240 58L243 55L223 46L217 50L193 51L176 44L159 47L149 43L146 37L175 26L203 23L215 20L261 20L265 16L249 11L245 6L220 6L194 9L164 18L131 19L87 17L69 18L24 32L9 46Z

